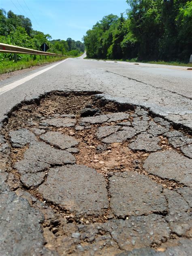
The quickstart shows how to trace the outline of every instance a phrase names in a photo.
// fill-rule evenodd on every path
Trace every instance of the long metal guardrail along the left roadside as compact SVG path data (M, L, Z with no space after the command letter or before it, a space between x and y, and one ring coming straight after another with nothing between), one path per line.
M37 51L33 49L23 48L15 45L6 45L0 43L0 52L1 53L20 53L20 54L34 54L34 55L46 55L46 56L62 56L56 53L50 53L45 51Z

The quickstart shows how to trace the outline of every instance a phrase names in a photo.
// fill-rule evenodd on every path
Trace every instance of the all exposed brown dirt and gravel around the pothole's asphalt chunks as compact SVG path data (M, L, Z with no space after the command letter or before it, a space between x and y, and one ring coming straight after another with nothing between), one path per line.
M81 124L80 118L81 110L85 107L98 109L98 112L94 114L94 116L105 115L107 113L114 112L126 112L130 115L130 117L128 119L111 122L110 124L85 124L85 126L83 126ZM144 110L141 109L141 111ZM48 117L57 118L62 117L62 115L65 114L75 115L77 125L81 125L82 129L77 129L77 127L75 126L56 128L43 124L44 120ZM90 95L90 93L85 93L82 95L76 95L76 93L65 95L52 94L41 99L40 105L23 105L21 109L19 109L18 111L14 111L11 114L8 123L2 129L2 134L10 145L9 162L7 164L7 170L9 171L9 185L14 191L17 191L18 188L21 188L22 190L29 192L40 202L44 202L46 207L51 207L51 209L53 210L55 214L54 218L57 221L53 222L53 220L50 220L48 217L45 216L45 222L43 224L44 237L47 243L46 247L50 250L56 250L59 255L77 255L75 254L75 248L76 244L79 244L79 240L77 239L77 241L72 244L71 240L69 239L72 233L77 232L77 228L75 228L75 225L89 225L96 222L105 223L115 217L113 214L111 214L110 207L106 209L103 215L100 215L97 218L94 218L92 216L77 217L75 213L69 213L68 211L66 211L66 209L62 208L61 205L55 205L51 201L45 201L45 198L43 198L43 196L38 192L38 187L32 187L29 189L23 186L23 184L19 181L20 174L14 168L14 164L15 162L23 159L23 154L26 149L28 149L28 145L23 148L12 147L10 143L9 132L11 130L17 130L19 128L27 128L31 131L33 128L39 128L44 129L45 131L51 130L62 132L63 134L74 137L79 142L79 145L77 146L79 152L73 153L76 158L77 164L85 165L87 167L96 169L98 173L104 175L107 181L107 190L109 190L109 177L113 175L113 173L125 171L136 171L140 174L147 175L149 179L155 181L157 184L161 184L163 188L168 188L169 190L182 188L183 184L179 182L170 179L162 179L156 175L149 175L149 173L147 173L147 171L143 169L143 162L149 156L150 152L147 152L145 150L131 150L128 147L129 143L131 141L134 141L135 137L139 133L137 133L132 139L127 139L121 143L105 144L101 141L101 139L98 139L96 137L96 131L99 127L109 125L115 126L120 122L130 122L132 124L134 117L139 117L139 115L135 114L134 108L132 106L121 106L113 102L102 102L98 98L95 98L94 95ZM148 117L147 122L153 120L149 113L147 113L145 117ZM173 128L170 126L170 130L171 129ZM160 139L158 145L162 148L161 151L175 150L179 152L179 154L181 154L181 151L179 149L173 149L173 147L169 144L168 139L164 135L158 135L156 137ZM40 139L40 136L36 135L36 138L38 141L42 141ZM51 147L53 147L53 145L51 145ZM47 173L42 183L46 180ZM108 197L110 203L110 195L108 195ZM34 206L34 203L32 203L32 205ZM37 208L39 208L39 206ZM100 237L104 234L105 233L100 233L97 236ZM173 236L170 236L169 238L173 238ZM174 238L177 239L178 237L175 235ZM117 253L122 252L122 250L119 249L119 245L117 245L115 241L113 242L116 246L116 249L113 248L113 253L115 253L115 250L117 250ZM90 246L90 243L92 243L92 241L83 241L83 245L85 247L86 245ZM169 242L167 242L167 244L169 245ZM165 250L165 246L159 247L159 245L157 244L151 244L151 247L158 248L159 251ZM105 255L114 255L111 254L110 250L111 249L105 252Z

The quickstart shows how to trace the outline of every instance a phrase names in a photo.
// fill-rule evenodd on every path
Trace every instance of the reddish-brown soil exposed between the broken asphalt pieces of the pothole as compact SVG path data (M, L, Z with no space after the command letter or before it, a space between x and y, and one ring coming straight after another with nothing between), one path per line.
M132 108L123 109L112 102L104 104L99 100L95 100L94 96L92 95L52 94L41 99L40 105L23 105L21 109L19 109L19 111L13 112L9 118L8 124L6 124L2 129L2 133L4 134L9 143L10 130L16 130L18 128L38 128L39 123L43 122L43 118L47 118L50 116L53 117L57 114L75 114L78 123L80 111L87 104L91 104L93 107L99 107L101 109L102 114L118 111L126 111L127 113L130 113L130 115L134 113L134 110ZM127 121L132 122L132 118L133 117L130 116L130 118ZM152 119L152 117L150 118ZM116 123L117 122L114 122L113 124L115 125ZM143 161L149 156L149 153L130 150L128 148L128 143L130 141L125 141L123 143L112 143L110 145L107 145L106 150L98 151L98 145L103 145L103 143L99 139L97 139L95 135L98 127L100 127L100 125L96 124L91 125L88 129L84 129L81 131L76 131L75 128L53 127L51 128L51 130L60 131L63 132L64 134L68 134L70 136L75 137L79 141L79 153L75 154L77 164L83 164L85 166L96 169L96 171L98 171L98 173L102 173L102 175L104 175L107 180L111 172L114 173L124 171L137 171L138 173L147 175L150 179L152 179L158 184L161 184L164 188L169 188L170 190L173 190L174 188L182 187L181 184L176 183L174 181L161 179L160 177L157 177L155 175L149 175L143 169ZM47 129L43 126L41 128ZM162 147L162 151L167 149L173 149L169 145L168 140L163 136L160 136L159 145ZM17 188L22 188L23 190L26 190L26 188L24 188L20 183L20 175L19 173L17 173L16 170L13 169L13 165L16 161L21 160L23 158L23 154L27 148L28 146L24 147L23 149L15 149L11 147L11 154L9 157L10 163L8 163L9 166L7 167L9 167L10 170L8 183L11 186L12 190L16 190ZM44 201L42 195L38 193L38 188L32 188L27 191L31 195L35 196L39 201ZM50 202L46 202L46 207L51 207L51 209L53 209L55 213L56 219L59 220L59 224L51 224L49 218L46 217L45 213L43 232L45 241L47 242L46 247L51 250L56 250L59 253L59 255L63 254L63 251L61 251L63 248L61 246L63 239L65 237L67 238L67 236L71 232L73 232L73 227L75 226L75 224L86 224L87 222L106 222L108 219L111 218L111 216L108 215L109 209L106 210L103 216L100 216L98 218L92 218L92 216L90 216L86 218L80 217L80 219L77 219L75 217L75 214L69 215L64 209L61 209L59 205L53 205ZM69 225L65 225L66 223L68 223ZM166 245L169 245L168 242ZM70 245L68 247L70 247ZM71 246L70 251L67 252L67 255L73 253L74 248L74 245ZM161 247L158 248L158 250L164 251L165 248L166 247L162 245Z

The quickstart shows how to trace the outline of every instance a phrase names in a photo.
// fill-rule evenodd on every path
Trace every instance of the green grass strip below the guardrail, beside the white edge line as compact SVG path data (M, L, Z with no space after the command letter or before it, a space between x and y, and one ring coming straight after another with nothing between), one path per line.
M42 64L49 64L51 62L60 61L68 58L65 57L47 57L42 60L19 60L18 62L14 61L2 61L0 62L0 75L8 72L12 72L15 70L21 70L23 68L30 68L32 66L38 66ZM71 58L71 56L70 56Z

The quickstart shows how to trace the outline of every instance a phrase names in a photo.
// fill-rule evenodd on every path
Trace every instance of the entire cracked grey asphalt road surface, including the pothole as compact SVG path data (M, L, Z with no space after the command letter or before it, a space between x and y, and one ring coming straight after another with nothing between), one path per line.
M190 255L191 81L77 58L1 94L0 256Z

